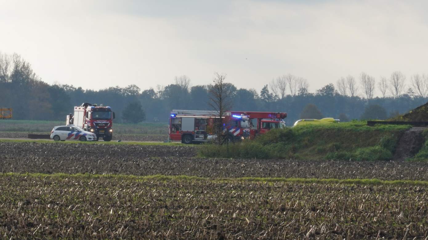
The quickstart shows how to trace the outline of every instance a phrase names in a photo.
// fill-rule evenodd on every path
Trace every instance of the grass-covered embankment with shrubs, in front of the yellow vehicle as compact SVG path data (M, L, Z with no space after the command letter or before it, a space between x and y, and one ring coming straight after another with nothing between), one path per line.
M388 160L408 125L376 125L351 121L271 130L255 140L204 145L205 157L257 159ZM428 145L427 145L428 153Z

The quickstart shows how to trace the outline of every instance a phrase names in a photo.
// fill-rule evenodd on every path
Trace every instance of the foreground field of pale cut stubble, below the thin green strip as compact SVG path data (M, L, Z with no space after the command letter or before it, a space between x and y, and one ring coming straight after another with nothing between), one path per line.
M5 239L423 239L412 186L0 176Z

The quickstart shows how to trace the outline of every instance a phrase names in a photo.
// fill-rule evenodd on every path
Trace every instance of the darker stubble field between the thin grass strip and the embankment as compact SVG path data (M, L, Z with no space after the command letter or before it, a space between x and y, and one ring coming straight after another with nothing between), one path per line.
M0 172L428 180L425 162L199 159L197 147L0 142Z

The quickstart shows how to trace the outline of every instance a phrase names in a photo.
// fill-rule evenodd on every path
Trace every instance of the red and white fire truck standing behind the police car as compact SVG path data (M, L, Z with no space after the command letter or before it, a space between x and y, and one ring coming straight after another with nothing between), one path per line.
M115 114L111 107L98 107L96 104L83 103L74 107L74 115L68 114L66 125L75 125L83 130L95 133L97 141L100 137L104 141L111 141L113 138L113 119Z

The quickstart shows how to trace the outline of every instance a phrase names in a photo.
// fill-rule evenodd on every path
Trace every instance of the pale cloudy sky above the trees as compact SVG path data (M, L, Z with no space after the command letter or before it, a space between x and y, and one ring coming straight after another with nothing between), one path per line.
M306 78L309 91L361 72L428 73L426 1L0 0L0 52L49 84L99 90L210 84L260 91ZM377 91L378 93L378 91Z

